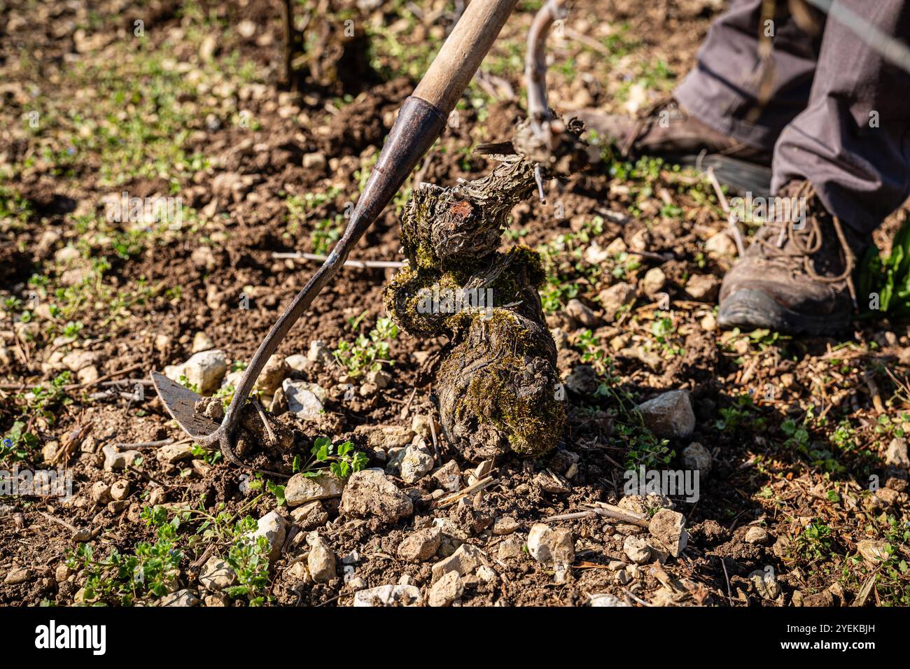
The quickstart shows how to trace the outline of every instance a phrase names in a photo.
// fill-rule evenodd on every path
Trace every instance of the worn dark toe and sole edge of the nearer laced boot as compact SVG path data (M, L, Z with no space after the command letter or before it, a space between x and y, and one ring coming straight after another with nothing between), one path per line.
M723 329L771 329L784 334L827 336L849 327L850 315L813 316L778 304L770 295L754 289L739 289L723 299L717 324Z

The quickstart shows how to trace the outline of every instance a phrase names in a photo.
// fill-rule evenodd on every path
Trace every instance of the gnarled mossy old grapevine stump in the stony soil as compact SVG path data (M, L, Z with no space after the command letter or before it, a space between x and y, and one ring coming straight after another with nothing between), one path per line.
M533 165L505 157L475 181L415 189L401 219L409 262L387 308L415 337L450 338L436 390L443 430L468 460L540 455L565 422L541 260L527 247L497 250L511 208L534 188Z

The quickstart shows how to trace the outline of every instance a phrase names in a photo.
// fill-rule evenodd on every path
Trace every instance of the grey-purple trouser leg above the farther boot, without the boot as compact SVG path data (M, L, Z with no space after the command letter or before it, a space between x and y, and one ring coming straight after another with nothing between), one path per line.
M673 93L679 103L714 130L771 151L784 127L809 100L821 35L797 25L787 4L777 3L770 58L760 56L763 0L733 0L708 30L698 63ZM824 15L813 18L821 27ZM821 31L820 31L821 32ZM768 68L768 69L765 69ZM766 77L760 103L760 86Z

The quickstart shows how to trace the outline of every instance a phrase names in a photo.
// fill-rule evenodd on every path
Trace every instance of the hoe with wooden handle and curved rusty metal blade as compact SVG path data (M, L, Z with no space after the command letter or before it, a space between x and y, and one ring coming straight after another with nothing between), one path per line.
M399 109L398 120L389 131L344 235L259 344L221 424L197 413L197 393L152 372L155 390L167 411L198 444L220 448L228 461L241 464L231 442L232 433L259 373L288 330L344 264L350 249L379 218L420 158L440 137L455 103L517 3L518 0L472 0L465 9L420 84Z

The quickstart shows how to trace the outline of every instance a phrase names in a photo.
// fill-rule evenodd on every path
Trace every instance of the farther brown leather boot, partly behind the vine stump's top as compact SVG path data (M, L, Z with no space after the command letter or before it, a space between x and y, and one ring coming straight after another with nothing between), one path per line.
M717 132L672 98L646 108L637 119L604 114L596 109L581 109L573 116L580 118L589 130L613 142L624 157L678 158L705 152L763 167L771 165L771 152L748 147Z

